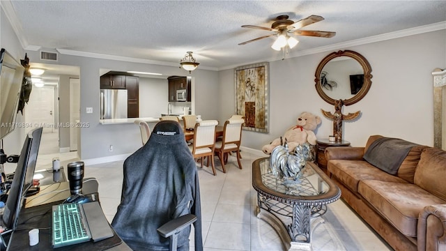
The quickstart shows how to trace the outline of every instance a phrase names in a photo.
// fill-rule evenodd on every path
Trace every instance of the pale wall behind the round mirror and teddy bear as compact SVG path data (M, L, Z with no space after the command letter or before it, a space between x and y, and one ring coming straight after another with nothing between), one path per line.
M446 68L446 30L405 38L370 43L353 50L371 65L371 89L354 105L344 107L344 114L360 110L355 122L344 123L344 139L353 146L364 146L369 135L399 137L419 144L433 145L433 78L434 68ZM272 139L283 135L295 124L301 112L322 117L316 137L332 134L332 121L321 109L334 112L334 107L318 96L314 73L318 63L330 52L299 56L270 62L270 132L243 130L242 145L261 149ZM220 119L234 108L234 70L220 72Z

